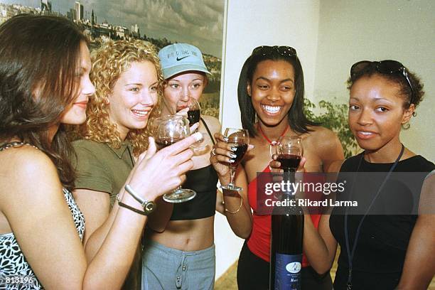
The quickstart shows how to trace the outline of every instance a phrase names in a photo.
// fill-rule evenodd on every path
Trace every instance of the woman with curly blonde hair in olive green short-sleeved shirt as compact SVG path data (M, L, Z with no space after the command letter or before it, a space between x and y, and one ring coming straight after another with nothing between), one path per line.
M109 41L91 58L96 92L87 104L87 120L77 130L81 139L73 142L77 154L73 194L85 215L85 245L92 233L104 230L117 193L136 157L146 149L146 123L154 114L163 82L151 43ZM140 289L139 270L138 247L124 289Z

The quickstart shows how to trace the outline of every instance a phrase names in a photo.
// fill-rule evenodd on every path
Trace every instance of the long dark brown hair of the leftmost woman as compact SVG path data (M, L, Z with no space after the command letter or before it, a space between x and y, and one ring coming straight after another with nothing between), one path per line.
M0 139L38 147L72 189L73 149L60 119L75 100L80 45L87 38L75 23L56 16L18 15L0 26ZM52 140L48 129L60 126Z

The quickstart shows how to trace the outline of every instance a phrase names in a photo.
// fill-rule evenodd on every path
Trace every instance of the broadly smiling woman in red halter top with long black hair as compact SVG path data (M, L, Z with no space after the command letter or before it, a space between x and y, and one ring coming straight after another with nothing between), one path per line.
M260 46L249 56L240 74L238 87L242 126L249 130L254 149L247 152L237 167L236 185L243 188L240 197L224 195L225 215L236 235L246 239L237 268L239 289L269 287L269 248L271 215L257 213L257 172L268 171L271 161L269 145L279 136L300 136L304 143L305 168L310 172L333 171L333 163L342 160L343 149L330 130L306 119L304 73L296 50L288 46ZM231 148L222 135L211 161L220 183L229 182ZM253 213L251 213L251 208ZM314 224L320 216L311 217ZM304 243L310 242L304 240ZM303 288L331 289L331 277L316 275L304 259Z

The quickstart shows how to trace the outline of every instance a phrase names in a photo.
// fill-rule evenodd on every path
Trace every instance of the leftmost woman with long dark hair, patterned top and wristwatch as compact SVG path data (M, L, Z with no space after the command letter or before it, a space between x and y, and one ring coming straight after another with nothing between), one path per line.
M64 125L85 122L95 92L87 39L65 18L32 15L2 23L0 39L0 286L119 289L147 220L143 205L182 183L197 138L158 153L149 140L86 256Z

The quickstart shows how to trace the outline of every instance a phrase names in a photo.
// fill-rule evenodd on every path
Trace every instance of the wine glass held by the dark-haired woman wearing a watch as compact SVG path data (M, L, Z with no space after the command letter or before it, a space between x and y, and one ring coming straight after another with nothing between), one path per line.
M156 143L160 149L180 141L190 135L189 122L184 116L163 116L157 120ZM196 195L194 190L178 188L163 195L163 200L168 203L184 203Z

